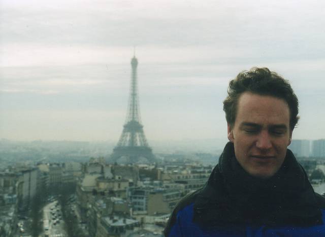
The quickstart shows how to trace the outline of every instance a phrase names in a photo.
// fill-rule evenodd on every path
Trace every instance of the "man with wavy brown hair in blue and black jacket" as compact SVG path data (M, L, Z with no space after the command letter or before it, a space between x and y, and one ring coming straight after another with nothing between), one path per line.
M206 185L183 198L166 236L325 236L325 201L287 149L298 122L288 81L237 75L223 101L228 139Z

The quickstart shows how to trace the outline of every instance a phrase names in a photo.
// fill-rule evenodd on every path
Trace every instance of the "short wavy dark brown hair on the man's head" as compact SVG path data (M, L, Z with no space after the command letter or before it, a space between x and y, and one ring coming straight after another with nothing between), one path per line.
M228 96L223 101L223 110L230 126L233 127L235 124L238 100L244 92L283 99L290 110L290 130L297 125L299 103L289 81L266 67L253 67L249 71L240 72L229 83Z

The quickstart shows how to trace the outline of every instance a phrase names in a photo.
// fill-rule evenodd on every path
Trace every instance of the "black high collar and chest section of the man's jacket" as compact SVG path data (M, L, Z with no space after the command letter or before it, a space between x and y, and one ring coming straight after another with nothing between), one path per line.
M316 225L321 211L303 168L287 150L270 179L250 176L228 143L194 202L193 221L203 225Z

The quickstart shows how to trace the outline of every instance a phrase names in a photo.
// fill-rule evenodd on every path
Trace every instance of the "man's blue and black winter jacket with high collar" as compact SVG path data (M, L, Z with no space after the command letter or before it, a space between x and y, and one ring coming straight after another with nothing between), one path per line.
M228 143L207 184L174 209L165 236L325 236L325 199L290 150L268 180L249 176Z

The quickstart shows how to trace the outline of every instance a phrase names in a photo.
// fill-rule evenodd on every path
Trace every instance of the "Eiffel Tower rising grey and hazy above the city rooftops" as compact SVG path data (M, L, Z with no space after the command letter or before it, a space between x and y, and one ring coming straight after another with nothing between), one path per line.
M113 149L110 162L119 164L153 163L155 162L155 157L152 154L152 149L148 145L140 120L137 89L138 60L135 56L131 60L131 65L132 78L128 113L122 135Z

